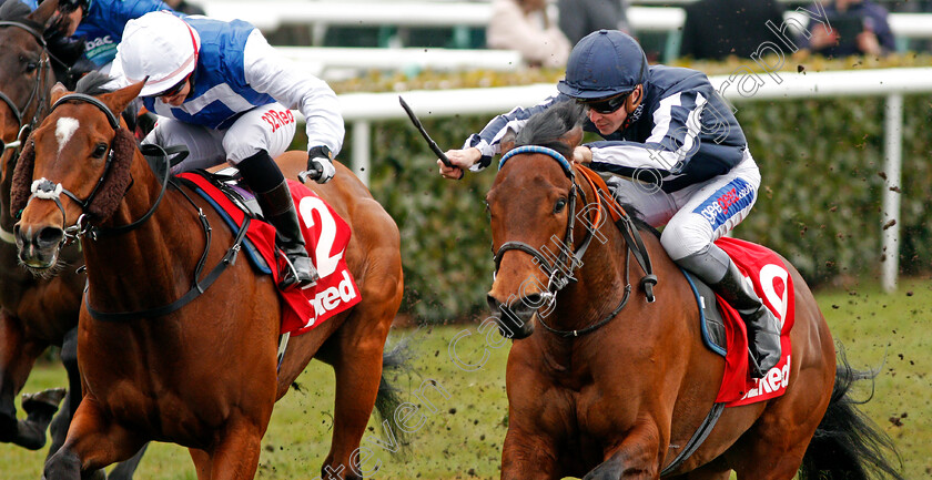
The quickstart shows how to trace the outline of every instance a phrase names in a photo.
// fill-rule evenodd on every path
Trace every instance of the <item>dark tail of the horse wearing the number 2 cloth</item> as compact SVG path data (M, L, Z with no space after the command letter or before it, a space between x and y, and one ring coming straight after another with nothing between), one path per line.
M401 390L392 385L388 379L388 374L409 372L411 366L411 350L407 341L401 341L391 350L382 354L382 380L378 382L378 394L375 397L375 410L378 412L378 418L382 420L382 437L393 448L393 456L404 457L408 453L411 441L407 432L395 425L395 410L404 404L401 397ZM386 431L387 430L387 431Z

